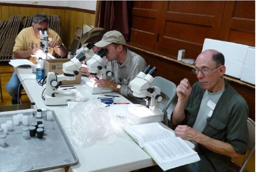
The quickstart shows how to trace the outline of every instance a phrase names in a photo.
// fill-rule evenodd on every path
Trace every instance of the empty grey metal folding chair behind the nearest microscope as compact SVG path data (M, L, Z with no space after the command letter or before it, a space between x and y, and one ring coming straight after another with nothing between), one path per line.
M161 89L163 100L159 104L159 109L164 113L164 124L168 126L168 119L170 120L170 115L177 103L177 100L176 103L174 102L176 97L176 85L172 81L166 80L161 76L155 77L155 80L151 85Z

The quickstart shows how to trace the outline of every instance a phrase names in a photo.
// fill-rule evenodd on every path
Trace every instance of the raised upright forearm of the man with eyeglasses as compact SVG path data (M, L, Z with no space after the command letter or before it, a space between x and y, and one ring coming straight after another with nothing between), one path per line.
M173 124L179 124L179 122L181 122L185 118L184 108L185 108L185 102L182 102L178 99L178 102L172 113Z

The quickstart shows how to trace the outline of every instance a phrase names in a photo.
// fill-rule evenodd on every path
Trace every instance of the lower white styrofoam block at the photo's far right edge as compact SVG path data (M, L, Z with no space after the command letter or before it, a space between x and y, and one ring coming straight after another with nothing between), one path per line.
M246 64L243 66L241 81L245 81L255 85L255 66Z

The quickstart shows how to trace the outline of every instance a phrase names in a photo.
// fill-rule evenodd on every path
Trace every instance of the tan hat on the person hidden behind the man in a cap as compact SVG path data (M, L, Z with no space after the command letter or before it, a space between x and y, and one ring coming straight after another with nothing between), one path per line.
M92 28L90 31L84 33L81 37L81 44L98 42L104 35L105 30L103 28Z

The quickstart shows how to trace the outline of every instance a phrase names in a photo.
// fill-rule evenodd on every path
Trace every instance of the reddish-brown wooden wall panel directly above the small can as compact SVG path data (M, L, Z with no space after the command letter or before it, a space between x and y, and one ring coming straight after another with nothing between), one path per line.
M184 49L196 59L205 38L218 39L223 8L223 1L163 1L157 52L176 59Z

